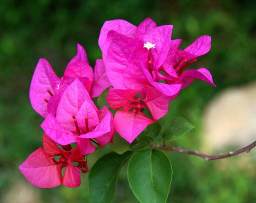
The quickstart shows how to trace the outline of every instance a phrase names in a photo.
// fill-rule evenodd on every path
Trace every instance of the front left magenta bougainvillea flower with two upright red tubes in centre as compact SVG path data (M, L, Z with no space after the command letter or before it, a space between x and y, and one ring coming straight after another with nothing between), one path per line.
M102 146L115 132L112 113L107 108L97 109L79 79L62 93L56 117L49 113L41 127L58 144L77 143L82 155L95 151L91 139Z

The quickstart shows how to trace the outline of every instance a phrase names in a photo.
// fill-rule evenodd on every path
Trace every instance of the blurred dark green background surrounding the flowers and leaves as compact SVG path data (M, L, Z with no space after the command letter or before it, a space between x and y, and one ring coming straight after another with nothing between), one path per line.
M32 109L28 91L39 58L47 59L59 76L85 47L90 65L101 58L97 44L105 20L124 19L138 25L151 17L158 25L173 24L173 39L182 48L203 34L212 36L211 51L196 67L212 72L216 88L196 81L170 104L163 118L182 116L195 125L189 135L173 142L195 150L202 145L202 112L220 91L256 78L256 3L239 0L2 0L0 6L0 202L19 197L19 203L86 203L88 174L81 187L38 189L18 170L27 156L41 146L42 118ZM214 121L213 121L214 122ZM89 167L108 152L89 156ZM170 203L256 202L256 174L241 166L243 154L207 163L198 157L168 152L174 175ZM22 199L22 197L24 197ZM23 202L22 202L23 201ZM17 201L16 201L17 202ZM115 203L137 203L129 189L126 167L121 170Z

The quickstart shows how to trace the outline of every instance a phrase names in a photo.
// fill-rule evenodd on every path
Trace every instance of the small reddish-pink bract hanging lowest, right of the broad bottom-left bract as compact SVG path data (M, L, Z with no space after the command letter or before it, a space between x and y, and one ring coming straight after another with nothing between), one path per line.
M62 183L70 188L77 188L81 184L80 170L73 166L70 160L68 160Z

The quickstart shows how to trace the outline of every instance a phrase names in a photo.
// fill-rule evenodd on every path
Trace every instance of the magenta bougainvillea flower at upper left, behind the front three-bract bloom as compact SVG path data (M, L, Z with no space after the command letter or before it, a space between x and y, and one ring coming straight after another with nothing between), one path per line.
M77 44L77 55L68 63L61 79L54 73L46 59L39 59L29 91L29 98L34 110L42 117L46 117L48 101L61 92L59 90L63 90L63 86L66 87L70 80L75 78L80 78L90 92L94 74L88 64L86 52L81 45ZM58 99L53 100L54 106L56 106ZM53 104L51 105L53 107Z

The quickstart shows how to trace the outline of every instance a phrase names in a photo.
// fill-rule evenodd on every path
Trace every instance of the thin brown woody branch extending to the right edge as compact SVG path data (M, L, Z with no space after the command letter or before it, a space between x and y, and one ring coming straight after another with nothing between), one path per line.
M256 141L253 142L252 144L249 144L246 147L243 147L240 150L236 150L236 151L230 151L227 154L220 154L220 155L206 155L203 154L199 151L189 151L189 150L184 150L181 147L173 147L173 146L157 146L156 144L151 144L152 148L158 149L158 150L164 150L164 151L175 151L175 152L179 152L179 153L185 153L185 154L190 154L190 155L195 155L197 157L202 157L205 159L205 161L211 161L211 160L216 160L216 159L221 159L221 158L227 158L227 157L233 157L237 154L243 153L243 152L247 152L249 153L251 151L252 148L254 148L256 146Z

